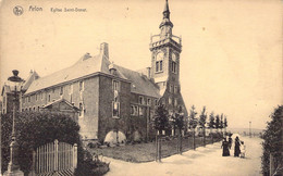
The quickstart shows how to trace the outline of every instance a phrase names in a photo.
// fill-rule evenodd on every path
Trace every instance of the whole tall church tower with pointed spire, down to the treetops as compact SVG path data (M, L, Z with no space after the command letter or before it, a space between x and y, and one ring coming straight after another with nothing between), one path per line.
M180 92L180 53L182 39L173 35L173 23L170 21L168 0L163 10L163 18L159 25L160 34L151 36L149 50L151 51L151 74L160 88L162 103L170 111L176 112L180 105L184 109Z

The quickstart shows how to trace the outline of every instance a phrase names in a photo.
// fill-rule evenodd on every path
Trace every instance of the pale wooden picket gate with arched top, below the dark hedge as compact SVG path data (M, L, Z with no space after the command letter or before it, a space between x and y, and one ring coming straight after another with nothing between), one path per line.
M72 176L77 166L77 144L59 142L44 144L33 153L33 168L29 176Z

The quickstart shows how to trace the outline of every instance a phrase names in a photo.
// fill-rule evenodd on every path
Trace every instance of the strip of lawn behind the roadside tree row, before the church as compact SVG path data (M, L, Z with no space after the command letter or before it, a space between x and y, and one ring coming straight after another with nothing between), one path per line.
M202 137L196 137L196 147L202 146ZM211 143L211 138L206 138L206 143ZM183 152L193 149L193 138L184 138L182 142ZM89 149L90 153L102 154L103 156L123 160L126 162L150 162L156 160L156 142L126 144L111 148ZM177 139L163 140L162 158L177 153Z

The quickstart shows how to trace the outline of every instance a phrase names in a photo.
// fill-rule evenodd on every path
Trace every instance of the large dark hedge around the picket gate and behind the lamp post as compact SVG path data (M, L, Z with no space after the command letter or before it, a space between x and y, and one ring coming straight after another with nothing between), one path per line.
M12 114L1 115L1 150L2 150L2 173L7 171L10 161ZM19 148L19 164L25 175L32 166L33 151L46 143L58 139L71 144L77 143L78 162L83 160L83 148L79 137L79 126L67 115L22 112L17 113L15 118L16 141Z

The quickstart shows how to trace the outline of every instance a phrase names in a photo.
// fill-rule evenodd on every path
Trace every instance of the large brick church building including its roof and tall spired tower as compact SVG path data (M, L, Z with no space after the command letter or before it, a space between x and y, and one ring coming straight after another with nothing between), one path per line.
M159 103L170 114L182 108L187 116L180 85L182 39L172 33L168 1L162 15L160 34L150 38L149 67L132 71L113 64L103 42L97 55L86 53L70 67L36 75L21 96L21 111L74 112L83 138L101 142L114 133L120 141L152 139Z

